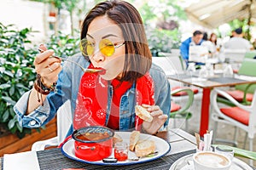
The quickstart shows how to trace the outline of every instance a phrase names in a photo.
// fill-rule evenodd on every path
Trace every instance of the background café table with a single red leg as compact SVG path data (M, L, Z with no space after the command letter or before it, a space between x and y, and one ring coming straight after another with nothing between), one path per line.
M250 78L248 80L248 77L238 75L236 75L235 77L222 77L220 75L216 75L214 77L208 78L206 81L198 79L196 75L188 74L167 75L167 78L174 81L193 85L198 88L202 88L201 122L199 132L201 136L207 133L209 126L210 94L212 88L229 87L238 84L256 83L255 77Z

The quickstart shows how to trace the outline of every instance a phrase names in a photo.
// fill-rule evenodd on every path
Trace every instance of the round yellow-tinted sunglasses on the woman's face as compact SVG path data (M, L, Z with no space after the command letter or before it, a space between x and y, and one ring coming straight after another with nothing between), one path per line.
M111 55L113 55L115 48L119 48L124 44L125 42L119 45L114 45L113 42L111 42L110 40L102 39L99 43L99 49L103 55L110 57ZM84 56L90 56L95 51L95 44L93 42L90 42L86 38L83 38L80 41L80 50Z

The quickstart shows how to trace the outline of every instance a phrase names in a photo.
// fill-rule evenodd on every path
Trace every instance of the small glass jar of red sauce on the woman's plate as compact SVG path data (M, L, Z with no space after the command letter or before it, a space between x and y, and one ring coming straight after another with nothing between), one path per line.
M114 144L114 158L118 161L126 161L128 159L128 144L125 142Z

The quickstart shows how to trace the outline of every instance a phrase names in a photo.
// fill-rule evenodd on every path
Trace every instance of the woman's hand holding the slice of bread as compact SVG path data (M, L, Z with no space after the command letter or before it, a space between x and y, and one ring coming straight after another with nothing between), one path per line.
M142 105L144 108L150 112L153 116L152 122L143 121L143 129L150 134L157 133L160 127L164 125L168 116L163 114L163 111L160 110L158 105Z

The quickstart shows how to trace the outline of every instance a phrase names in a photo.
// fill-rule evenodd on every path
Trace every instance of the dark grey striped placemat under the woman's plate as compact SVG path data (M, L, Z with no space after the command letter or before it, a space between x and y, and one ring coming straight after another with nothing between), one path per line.
M172 166L172 163L182 156L194 153L195 150L189 150L182 153L177 153L174 155L163 156L160 159L154 161L148 161L145 163L139 163L129 166L100 166L92 165L79 161L74 161L67 158L61 153L61 149L51 149L38 151L38 161L40 169L63 169L63 168L82 168L82 169L166 169Z

